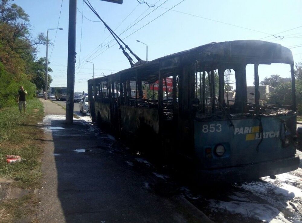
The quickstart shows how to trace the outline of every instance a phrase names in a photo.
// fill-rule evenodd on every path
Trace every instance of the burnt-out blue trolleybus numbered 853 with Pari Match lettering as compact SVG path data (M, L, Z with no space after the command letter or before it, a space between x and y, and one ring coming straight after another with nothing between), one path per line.
M291 69L291 105L259 103L258 67L272 63ZM248 64L254 68L254 103L247 100ZM224 97L230 69L236 80L233 103ZM170 95L163 91L167 77L173 78ZM130 81L136 81L136 97ZM147 84L156 81L158 91L151 88L143 99ZM245 181L299 166L294 62L279 44L238 40L199 46L90 79L88 97L92 120L102 128L158 159L192 164L199 179Z

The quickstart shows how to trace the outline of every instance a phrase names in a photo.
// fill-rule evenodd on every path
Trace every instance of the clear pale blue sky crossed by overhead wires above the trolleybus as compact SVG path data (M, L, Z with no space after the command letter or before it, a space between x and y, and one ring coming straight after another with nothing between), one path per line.
M146 2L150 5L157 2L155 4L156 6L163 3L161 7L171 8L181 1L182 0L147 0ZM98 14L113 30L133 10L123 23L117 27L115 30L117 34L123 32L143 12L145 13L141 15L136 22L155 10L120 35L121 38L127 37L129 34L167 11L167 9L157 8L156 6L149 8L146 4L139 4L137 0L124 0L122 5L99 0L90 0L90 2ZM140 2L143 1L140 0ZM20 5L25 12L29 14L33 36L36 36L37 33L40 32L46 33L46 30L49 28L57 27L61 0L14 0L14 3ZM133 52L142 59L146 59L146 47L141 43L137 43L136 40L147 43L149 47L149 60L210 42L260 39L289 29L293 30L278 34L281 37L284 36L282 40L273 36L263 40L280 43L287 47L295 47L296 45L302 44L302 27L299 27L302 26L300 17L301 6L302 1L300 0L185 0L173 9L191 15L168 11L146 27L127 37L124 41L130 46ZM82 0L77 1L77 7L79 11L82 12ZM53 69L51 73L53 83L51 86L66 86L68 9L69 1L63 0L59 28L63 28L64 30L58 30L57 32L51 57L52 46L49 47L49 66ZM108 44L106 45L106 43L112 40L112 37L108 37L109 32L107 29L104 29L104 25L101 22L92 22L86 18L83 18L82 22L82 15L79 11L77 11L76 30L77 57L75 91L87 91L87 80L91 78L93 71L92 64L86 63L85 60L88 59L95 63L95 75L101 75L101 73L108 75L111 74L111 72L129 68L130 65L118 45L112 46L115 43L114 41L109 44L109 47L112 47L106 50L106 48L108 48ZM83 14L90 20L98 21L98 18L85 4ZM50 30L49 32L49 38L52 42L54 41L55 33L56 30ZM107 40L105 40L106 38ZM103 44L102 48L101 44ZM294 55L294 61L301 62L302 47L292 48L291 50ZM97 52L95 53L95 51ZM103 51L104 53L102 53ZM91 52L95 54L91 56ZM46 47L40 46L37 57L40 58L45 55ZM289 65L260 65L259 78L261 81L264 77L272 74L289 77L289 70ZM253 76L250 75L247 80L248 85L252 85Z

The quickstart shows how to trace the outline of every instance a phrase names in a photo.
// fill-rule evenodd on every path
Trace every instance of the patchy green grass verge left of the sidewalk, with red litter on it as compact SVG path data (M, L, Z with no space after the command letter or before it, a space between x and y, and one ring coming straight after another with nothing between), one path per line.
M0 178L12 179L2 188L26 191L26 195L0 200L0 221L14 221L32 213L37 203L34 189L40 187L43 130L38 122L43 119L43 104L37 98L27 101L27 114L20 114L18 105L0 110ZM6 155L19 155L22 160L8 164ZM8 190L9 191L9 190ZM8 193L9 194L9 193Z

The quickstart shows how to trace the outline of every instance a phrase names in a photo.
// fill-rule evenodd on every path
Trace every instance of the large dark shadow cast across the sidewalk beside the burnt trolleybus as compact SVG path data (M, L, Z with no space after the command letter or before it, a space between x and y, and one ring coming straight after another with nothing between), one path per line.
M110 140L80 120L51 121L58 197L67 222L185 222L179 208L146 188L147 176L133 170ZM113 141L112 141L113 143ZM108 148L108 150L106 149ZM78 150L78 151L76 151Z

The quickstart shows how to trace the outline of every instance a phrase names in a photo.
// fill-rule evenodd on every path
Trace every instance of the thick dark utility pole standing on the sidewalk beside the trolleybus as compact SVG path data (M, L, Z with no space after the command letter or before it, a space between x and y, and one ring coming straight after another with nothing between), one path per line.
M73 95L76 69L76 0L69 0L66 123L73 123Z

